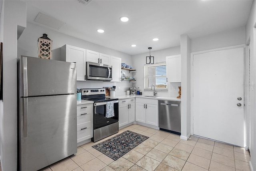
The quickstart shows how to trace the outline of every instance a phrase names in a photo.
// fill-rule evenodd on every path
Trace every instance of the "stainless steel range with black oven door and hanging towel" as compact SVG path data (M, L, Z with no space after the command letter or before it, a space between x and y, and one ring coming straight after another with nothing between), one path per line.
M96 142L119 131L118 99L106 97L103 88L82 89L82 99L94 101L92 141ZM109 111L114 113L109 115Z

